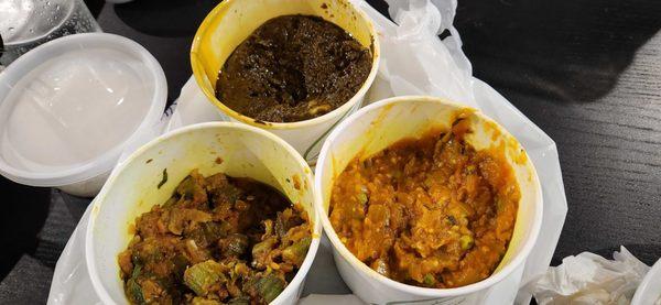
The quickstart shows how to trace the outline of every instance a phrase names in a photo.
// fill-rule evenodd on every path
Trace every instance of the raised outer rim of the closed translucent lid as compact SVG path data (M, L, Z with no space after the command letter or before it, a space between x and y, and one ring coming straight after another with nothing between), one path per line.
M45 55L47 55L47 53L53 48L78 50L85 46L94 47L97 43L112 44L116 46L113 50L123 51L127 54L131 54L144 64L145 72L151 75L150 80L154 81L154 89L152 92L150 92L151 106L145 116L142 118L142 122L123 142L118 143L108 152L86 161L83 164L73 164L69 165L69 168L53 172L32 172L17 168L0 157L0 173L2 175L11 181L32 186L63 186L83 182L111 170L122 153L122 149L131 141L140 137L147 127L155 124L161 119L167 98L167 83L165 80L163 68L153 57L153 55L151 55L142 45L130 39L116 34L82 33L64 36L44 43L25 53L23 56L19 57L11 65L9 65L2 72L2 74L0 74L0 81L2 81L3 78L10 77L10 74L13 74L14 70L17 74L19 74L18 79L23 79L29 72L33 70L39 65L51 58L50 56ZM2 101L3 100L0 100L0 102ZM13 109L13 107L10 108L10 110L11 109Z

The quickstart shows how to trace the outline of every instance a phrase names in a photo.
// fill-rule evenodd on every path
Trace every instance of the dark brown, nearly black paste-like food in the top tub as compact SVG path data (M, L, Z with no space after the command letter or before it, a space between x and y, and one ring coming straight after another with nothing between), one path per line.
M216 97L259 121L307 120L349 101L371 64L369 48L334 23L312 15L278 17L227 58Z

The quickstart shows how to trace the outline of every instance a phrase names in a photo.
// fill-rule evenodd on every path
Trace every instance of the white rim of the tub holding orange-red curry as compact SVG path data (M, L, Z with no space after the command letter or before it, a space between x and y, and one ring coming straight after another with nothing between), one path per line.
M502 281L510 273L512 273L517 268L519 268L521 264L523 264L525 262L525 259L528 258L528 255L530 254L530 251L532 250L532 248L534 247L534 244L537 242L537 239L538 239L538 236L539 236L539 232L541 229L542 211L543 211L542 187L540 184L540 179L539 179L537 170L534 168L534 165L532 164L532 161L530 159L528 159L529 160L528 166L530 167L531 173L533 173L534 186L535 186L534 187L535 188L534 204L537 205L535 213L534 213L534 216L532 219L533 225L532 225L532 229L530 230L530 236L523 243L521 251L513 257L513 259L510 261L509 264L507 264L501 270L492 273L489 277L481 280L479 282L466 285L466 286L460 286L460 287L455 287L455 288L426 288L426 287L419 287L419 286L403 284L403 283L397 282L394 280L391 280L389 277L386 277L386 276L379 274L378 272L373 271L371 268L369 268L365 263L362 263L360 260L358 260L344 246L344 243L339 240L337 233L335 232L333 225L330 224L328 214L324 209L324 200L323 200L323 196L322 196L322 176L325 175L326 173L324 173L323 164L326 162L327 157L330 157L329 156L330 145L333 144L335 139L337 139L337 137L339 134L346 132L346 129L348 126L350 126L354 121L361 119L362 116L365 116L367 112L372 111L375 109L384 108L391 104L405 102L405 101L410 101L410 100L438 102L438 104L448 105L448 106L453 106L453 107L457 107L457 108L474 109L474 108L460 105L458 102L448 101L448 100L445 100L442 98L436 98L436 97L400 96L400 97L392 97L392 98L383 99L383 100L377 101L375 104L371 104L367 107L364 107L360 110L358 110L356 113L351 115L346 120L342 121L339 123L339 126L328 135L328 139L326 140L326 142L324 142L324 145L322 146L322 150L319 152L319 159L317 162L317 167L315 171L315 178L314 178L315 189L316 189L315 204L316 204L316 208L317 208L317 216L322 220L324 231L326 232L326 236L333 243L334 250L337 251L338 254L342 255L342 258L344 258L349 263L349 265L351 265L353 269L355 269L355 270L357 270L357 272L366 275L366 277L369 277L372 281L377 281L392 290L413 294L413 295L420 295L420 296L453 297L453 296L466 295L466 294L470 294L474 292L478 292L478 291L488 288L488 287L495 285L496 283ZM484 113L481 113L481 111L475 109L474 113L479 116L481 119L485 119L487 121L495 123L500 129L501 132L513 138L513 135L511 135L503 127L501 127L498 122L494 121L492 119L490 119L487 116L485 116ZM513 138L513 139L516 139L516 138ZM525 153L525 154L528 155L528 153ZM332 174L332 173L328 173L328 174Z

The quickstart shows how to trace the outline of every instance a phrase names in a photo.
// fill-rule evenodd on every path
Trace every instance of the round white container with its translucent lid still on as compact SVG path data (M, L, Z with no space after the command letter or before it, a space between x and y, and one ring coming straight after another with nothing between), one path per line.
M163 69L129 39L47 42L0 73L0 174L94 196L122 152L160 133L166 97Z

